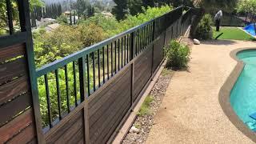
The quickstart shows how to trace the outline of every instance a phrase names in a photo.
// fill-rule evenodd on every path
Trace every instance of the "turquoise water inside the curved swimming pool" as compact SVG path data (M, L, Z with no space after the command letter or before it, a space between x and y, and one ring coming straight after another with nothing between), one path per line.
M256 131L256 120L250 114L256 113L256 50L245 50L237 57L246 63L230 95L230 103L238 117Z

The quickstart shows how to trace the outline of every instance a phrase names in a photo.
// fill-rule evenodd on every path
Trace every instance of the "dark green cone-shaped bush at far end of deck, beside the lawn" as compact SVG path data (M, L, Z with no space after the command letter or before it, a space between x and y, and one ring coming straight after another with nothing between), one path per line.
M197 30L196 30L196 37L199 39L209 39L213 37L213 32L211 29L212 18L210 14L205 14L201 22L199 22Z

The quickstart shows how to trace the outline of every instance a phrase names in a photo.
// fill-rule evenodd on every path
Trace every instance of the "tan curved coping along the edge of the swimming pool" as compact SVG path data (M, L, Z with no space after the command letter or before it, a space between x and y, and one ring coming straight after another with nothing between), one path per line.
M235 83L238 80L238 77L240 76L245 66L245 63L237 58L237 54L244 50L256 50L256 48L253 48L253 47L240 48L230 52L230 57L234 58L234 60L237 61L238 63L234 67L234 70L231 72L230 76L226 79L226 82L224 83L224 85L221 87L221 90L219 91L219 94L218 94L218 101L222 106L223 112L226 114L227 118L230 119L230 122L232 122L234 126L236 126L237 129L240 130L243 134L245 134L248 138L256 142L256 133L250 130L246 126L246 124L244 124L244 122L242 122L242 120L238 118L238 115L234 112L232 106L230 105L230 92L233 89Z

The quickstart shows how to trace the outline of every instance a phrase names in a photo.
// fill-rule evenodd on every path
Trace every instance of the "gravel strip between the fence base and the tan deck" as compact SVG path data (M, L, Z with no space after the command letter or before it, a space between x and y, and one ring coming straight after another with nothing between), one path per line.
M154 100L150 102L150 113L146 115L138 115L135 119L131 130L123 140L123 144L131 143L145 143L151 127L154 125L154 116L158 111L159 106L162 103L162 98L166 94L166 89L170 84L173 70L162 70L161 75L158 78L158 82L154 85L154 88L150 92L151 98ZM137 130L132 130L132 129Z

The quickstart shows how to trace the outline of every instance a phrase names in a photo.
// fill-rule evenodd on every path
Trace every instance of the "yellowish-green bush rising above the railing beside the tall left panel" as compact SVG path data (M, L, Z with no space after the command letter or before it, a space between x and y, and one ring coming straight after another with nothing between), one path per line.
M80 26L60 26L53 32L34 33L35 62L38 67L73 54L105 38L102 28L93 23Z

